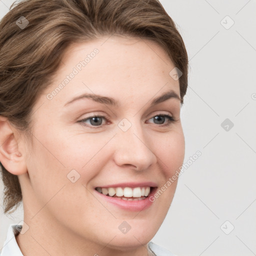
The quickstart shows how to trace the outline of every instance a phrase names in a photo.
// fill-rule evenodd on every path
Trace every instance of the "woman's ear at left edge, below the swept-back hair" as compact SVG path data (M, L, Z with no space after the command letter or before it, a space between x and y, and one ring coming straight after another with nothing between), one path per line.
M13 131L7 117L0 115L0 162L10 173L20 175L27 172L25 152L18 148Z

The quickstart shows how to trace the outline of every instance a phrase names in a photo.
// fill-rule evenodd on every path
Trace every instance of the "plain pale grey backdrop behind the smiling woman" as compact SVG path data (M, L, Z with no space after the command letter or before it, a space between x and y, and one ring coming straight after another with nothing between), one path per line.
M0 0L0 18L11 3ZM161 3L189 58L181 108L189 167L152 241L180 256L255 255L256 1ZM0 249L9 224L22 218L21 207L8 217L0 212Z

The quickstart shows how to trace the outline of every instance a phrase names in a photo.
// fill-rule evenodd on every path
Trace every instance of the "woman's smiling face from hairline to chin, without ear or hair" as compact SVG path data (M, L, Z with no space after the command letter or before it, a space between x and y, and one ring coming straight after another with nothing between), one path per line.
M176 188L177 180L167 181L184 158L174 67L144 39L101 37L69 47L32 109L28 175L19 176L30 228L118 249L153 237Z

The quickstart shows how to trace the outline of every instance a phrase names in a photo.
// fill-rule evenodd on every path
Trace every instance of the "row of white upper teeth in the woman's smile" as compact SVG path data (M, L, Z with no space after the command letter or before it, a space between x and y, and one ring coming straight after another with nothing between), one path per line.
M150 192L150 186L142 187L97 187L96 190L102 194L113 196L124 196L124 197L140 197L147 196Z

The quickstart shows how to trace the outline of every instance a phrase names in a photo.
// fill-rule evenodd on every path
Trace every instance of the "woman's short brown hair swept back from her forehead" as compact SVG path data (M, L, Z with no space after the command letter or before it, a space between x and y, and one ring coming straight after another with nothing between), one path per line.
M22 16L28 20L25 27L18 26L22 20L25 25ZM179 88L183 103L187 52L159 0L23 0L10 6L0 21L0 31L0 115L27 138L31 109L50 84L65 49L102 35L146 38L162 46L182 72ZM18 176L1 163L0 167L4 213L13 212L22 201Z

